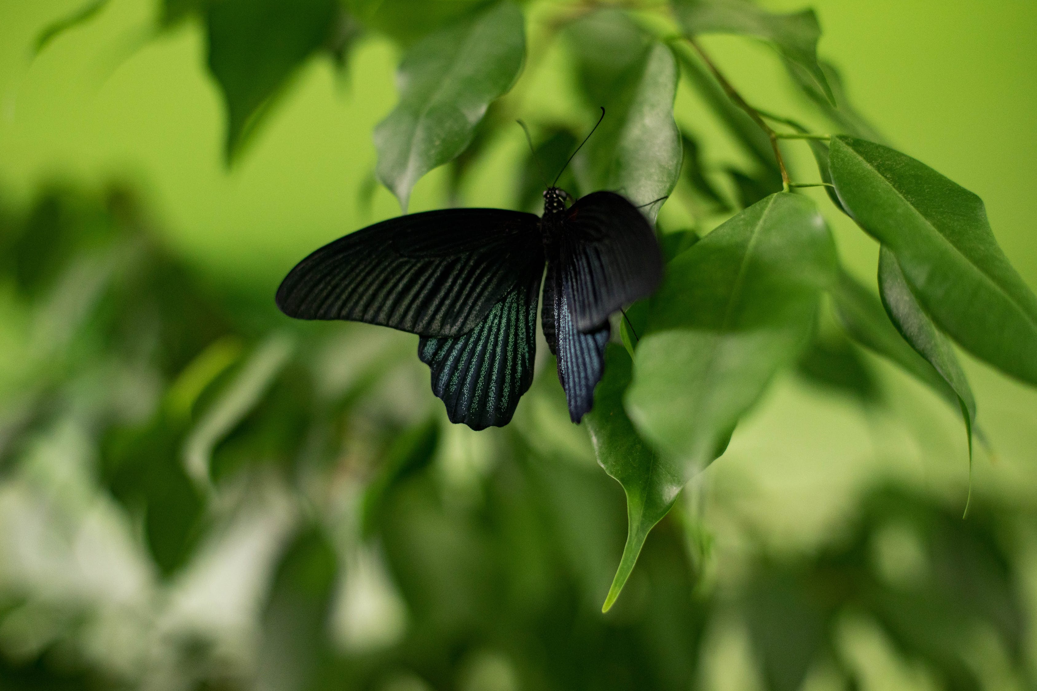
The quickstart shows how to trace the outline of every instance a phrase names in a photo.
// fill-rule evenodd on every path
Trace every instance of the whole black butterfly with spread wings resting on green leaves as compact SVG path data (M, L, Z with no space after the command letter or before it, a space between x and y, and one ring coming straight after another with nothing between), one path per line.
M417 334L418 357L450 422L481 430L507 425L533 381L542 283L543 335L579 423L605 370L609 315L654 292L663 256L651 225L624 197L573 200L557 180L543 193L541 217L452 208L345 235L288 272L277 306L298 319Z

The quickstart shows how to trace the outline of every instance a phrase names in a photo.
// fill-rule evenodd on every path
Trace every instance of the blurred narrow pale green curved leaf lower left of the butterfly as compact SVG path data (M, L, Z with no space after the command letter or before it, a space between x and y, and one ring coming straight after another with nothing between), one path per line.
M213 449L259 402L292 348L291 339L284 335L269 337L191 431L184 444L184 467L200 487L208 487L212 482Z

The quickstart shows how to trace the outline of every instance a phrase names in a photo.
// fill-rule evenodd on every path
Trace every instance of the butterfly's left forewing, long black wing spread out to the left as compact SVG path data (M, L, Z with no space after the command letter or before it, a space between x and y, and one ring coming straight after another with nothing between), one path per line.
M299 319L349 319L428 337L467 334L529 266L542 270L539 220L504 209L411 213L326 244L281 283ZM535 309L535 308L534 308Z

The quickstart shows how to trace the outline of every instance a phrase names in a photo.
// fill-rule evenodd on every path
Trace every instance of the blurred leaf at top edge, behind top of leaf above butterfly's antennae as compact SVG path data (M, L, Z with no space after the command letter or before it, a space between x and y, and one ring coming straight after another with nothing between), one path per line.
M566 38L577 63L580 90L593 109L614 95L615 84L643 58L648 36L621 9L598 9L572 22Z

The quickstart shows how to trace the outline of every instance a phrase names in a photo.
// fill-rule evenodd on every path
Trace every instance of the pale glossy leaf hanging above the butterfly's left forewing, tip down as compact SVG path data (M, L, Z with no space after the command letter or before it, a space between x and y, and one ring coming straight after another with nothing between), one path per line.
M407 211L421 176L460 154L491 102L518 78L522 12L502 2L429 34L399 65L399 104L374 128L379 179Z

